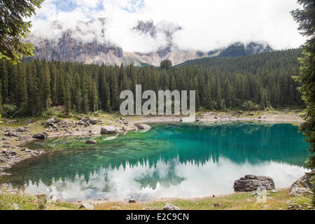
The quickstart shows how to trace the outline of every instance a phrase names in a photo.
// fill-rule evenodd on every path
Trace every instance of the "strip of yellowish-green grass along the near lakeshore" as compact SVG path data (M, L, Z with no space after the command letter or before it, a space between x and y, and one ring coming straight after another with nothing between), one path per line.
M311 207L311 196L293 197L288 189L277 193L268 192L267 202L257 202L253 193L235 193L219 197L203 197L196 199L161 199L153 202L97 202L96 210L111 210L120 207L123 210L142 210L146 207L156 207L161 210L165 203L174 204L182 210L281 210L288 209L289 204L300 204L303 209ZM22 210L78 210L79 203L47 202L44 196L27 196L12 193L0 193L0 210L13 210L17 204Z

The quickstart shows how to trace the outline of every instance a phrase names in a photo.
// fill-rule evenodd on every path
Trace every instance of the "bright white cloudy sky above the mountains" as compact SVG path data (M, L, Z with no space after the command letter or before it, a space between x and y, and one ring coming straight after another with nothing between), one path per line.
M264 41L286 49L304 42L290 15L298 7L296 0L46 0L31 20L34 34L57 38L59 33L48 26L51 21L68 29L77 21L106 18L106 41L124 51L148 52L166 44L165 36L132 31L138 20L181 26L173 41L186 50L214 50L236 41ZM91 31L97 36L102 28L94 22L81 37L91 41Z

